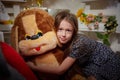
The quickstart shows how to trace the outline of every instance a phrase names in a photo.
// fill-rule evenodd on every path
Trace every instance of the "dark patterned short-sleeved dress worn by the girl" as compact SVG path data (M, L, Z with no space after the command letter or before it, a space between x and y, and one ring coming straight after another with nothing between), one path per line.
M69 56L77 59L76 63L86 76L93 75L97 80L120 80L120 56L102 43L79 34Z

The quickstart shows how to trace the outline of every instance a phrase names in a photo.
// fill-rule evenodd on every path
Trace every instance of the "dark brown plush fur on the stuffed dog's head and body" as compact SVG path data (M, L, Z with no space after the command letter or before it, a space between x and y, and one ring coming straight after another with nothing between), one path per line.
M39 30L41 30L44 33L51 31L53 26L54 26L54 19L52 16L50 16L46 11L41 10L41 9L29 9L29 10L25 10L22 11L18 14L18 16L15 18L14 21L14 25L12 27L12 31L11 31L11 44L12 46L16 49L16 47L18 47L18 43L21 40L25 40L25 30L23 27L23 23L22 23L22 17L27 16L27 15L31 15L31 14L35 14L35 18L36 18L36 23L37 23L37 27L39 28ZM19 48L18 48L19 51ZM20 52L20 51L19 51ZM63 52L57 48L55 48L54 50L51 50L49 52L46 52L45 54L48 53L52 53L54 54L54 56L56 57L56 60L61 63L62 62L62 57L63 57ZM44 59L44 57L46 57L44 54L40 55L39 57L35 56L35 62L36 64L39 64L39 62L41 62L41 60L39 61L39 59L41 59L41 57ZM45 62L47 62L48 60L45 59ZM43 61L44 62L44 61ZM50 60L49 60L50 62Z

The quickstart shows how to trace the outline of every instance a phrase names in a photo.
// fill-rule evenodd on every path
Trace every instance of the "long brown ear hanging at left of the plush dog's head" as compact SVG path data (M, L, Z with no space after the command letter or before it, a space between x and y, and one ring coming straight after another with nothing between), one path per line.
M12 30L11 30L11 46L17 52L19 52L19 49L18 49L18 26L13 27Z

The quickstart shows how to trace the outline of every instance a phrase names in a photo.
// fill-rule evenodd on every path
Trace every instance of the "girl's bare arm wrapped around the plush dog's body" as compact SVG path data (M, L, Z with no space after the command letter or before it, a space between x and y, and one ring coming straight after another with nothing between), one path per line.
M64 59L64 61L57 67L48 67L47 65L43 66L35 66L32 62L27 62L28 66L32 68L33 70L40 71L40 72L46 72L46 73L53 73L53 74L63 74L65 71L67 71L72 64L75 62L76 59L72 57L67 57Z

